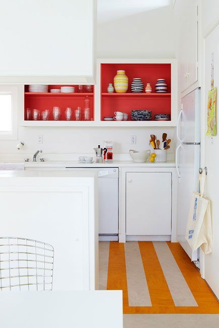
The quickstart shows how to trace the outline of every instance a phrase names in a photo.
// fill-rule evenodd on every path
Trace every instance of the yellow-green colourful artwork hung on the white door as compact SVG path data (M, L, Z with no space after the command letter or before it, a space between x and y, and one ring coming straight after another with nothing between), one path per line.
M208 92L206 136L214 137L215 135L216 135L216 88L213 88Z

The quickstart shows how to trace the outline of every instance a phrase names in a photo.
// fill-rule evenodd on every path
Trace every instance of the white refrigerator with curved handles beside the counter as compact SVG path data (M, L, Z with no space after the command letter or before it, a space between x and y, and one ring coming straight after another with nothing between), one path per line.
M176 167L179 177L177 235L178 241L192 261L197 261L198 251L192 251L185 239L190 200L193 191L198 191L200 167L200 89L182 98L177 122Z

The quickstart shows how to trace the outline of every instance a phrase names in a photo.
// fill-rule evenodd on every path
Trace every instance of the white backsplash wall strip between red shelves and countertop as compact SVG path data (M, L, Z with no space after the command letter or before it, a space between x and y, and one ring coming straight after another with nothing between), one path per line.
M104 141L114 142L114 158L118 160L130 159L129 149L152 149L149 146L150 134L162 139L166 132L172 139L171 148L168 150L168 160L174 160L176 148L175 128L30 128L20 127L18 140L0 141L0 161L23 160L24 157L32 158L37 149L42 149L40 157L49 160L76 160L79 155L94 155L93 148L103 146ZM43 136L43 143L37 142L38 135ZM132 135L136 135L136 144L131 144ZM16 148L19 141L24 141L21 150Z

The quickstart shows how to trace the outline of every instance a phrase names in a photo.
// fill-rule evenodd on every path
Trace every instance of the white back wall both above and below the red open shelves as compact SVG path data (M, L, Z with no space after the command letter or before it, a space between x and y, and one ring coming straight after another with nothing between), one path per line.
M141 14L121 18L97 26L97 57L117 58L173 58L174 40L172 28L172 6L163 7ZM77 33L77 31L74 31ZM18 140L25 147L16 150L16 141L0 142L0 155L14 158L14 154L25 157L42 148L45 157L57 158L58 153L92 153L93 147L113 140L115 153L128 153L129 149L148 149L151 133L161 137L167 132L175 138L175 129L161 128L19 128ZM43 144L37 143L37 135L43 135ZM137 136L137 144L130 144L132 134ZM174 141L174 140L173 140ZM50 155L48 155L50 153ZM56 156L51 156L56 153ZM170 159L174 158L174 142L170 149ZM12 160L12 159L11 159Z

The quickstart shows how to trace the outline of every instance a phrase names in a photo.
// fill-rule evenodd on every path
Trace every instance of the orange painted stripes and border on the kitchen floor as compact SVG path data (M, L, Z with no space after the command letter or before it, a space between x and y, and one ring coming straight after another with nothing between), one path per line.
M167 244L198 306L175 306L152 242L138 242L152 306L129 306L124 244L110 242L107 290L123 290L124 314L219 313L219 302L180 244Z

